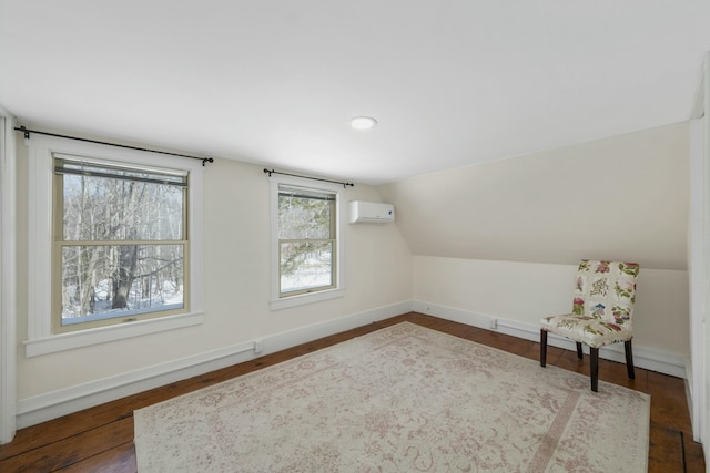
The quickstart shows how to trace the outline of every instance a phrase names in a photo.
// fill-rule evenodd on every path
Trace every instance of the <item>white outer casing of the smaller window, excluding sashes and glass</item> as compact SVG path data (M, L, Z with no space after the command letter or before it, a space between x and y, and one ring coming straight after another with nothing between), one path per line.
M345 238L343 232L343 218L345 210L345 199L343 197L343 186L331 183L314 183L313 181L273 175L271 181L271 310L285 309L322 300L335 299L345 296L345 269L343 255L345 254ZM332 289L323 289L308 294L297 294L293 296L278 297L280 287L280 258L278 258L278 186L288 185L304 187L307 189L328 192L336 195L336 246L335 251L335 280L336 286Z

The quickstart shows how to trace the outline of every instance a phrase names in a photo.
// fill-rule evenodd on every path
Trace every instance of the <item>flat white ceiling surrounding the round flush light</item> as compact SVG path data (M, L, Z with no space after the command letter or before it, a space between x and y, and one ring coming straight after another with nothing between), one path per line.
M709 20L707 0L0 0L0 105L382 184L687 120Z

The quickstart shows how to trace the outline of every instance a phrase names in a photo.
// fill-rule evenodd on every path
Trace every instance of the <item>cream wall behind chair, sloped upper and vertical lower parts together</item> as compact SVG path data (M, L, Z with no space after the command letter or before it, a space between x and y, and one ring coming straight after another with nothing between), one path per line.
M579 259L636 261L638 364L683 376L689 150L680 123L379 186L415 255L414 308L538 339L570 310Z

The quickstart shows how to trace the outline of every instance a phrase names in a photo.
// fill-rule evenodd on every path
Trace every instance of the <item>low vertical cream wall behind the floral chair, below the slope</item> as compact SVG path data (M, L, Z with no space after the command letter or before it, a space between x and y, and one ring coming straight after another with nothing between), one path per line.
M414 257L414 299L528 326L568 313L577 265ZM635 349L688 356L688 274L641 268L633 310ZM434 313L436 315L436 312Z

